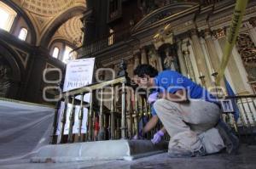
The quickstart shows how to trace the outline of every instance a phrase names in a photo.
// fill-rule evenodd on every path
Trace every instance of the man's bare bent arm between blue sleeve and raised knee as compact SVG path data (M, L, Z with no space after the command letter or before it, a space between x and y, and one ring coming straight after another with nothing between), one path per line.
M187 92L185 89L177 90L176 93L160 93L160 99L167 99L172 102L177 102L177 103L188 103L189 99L187 97Z

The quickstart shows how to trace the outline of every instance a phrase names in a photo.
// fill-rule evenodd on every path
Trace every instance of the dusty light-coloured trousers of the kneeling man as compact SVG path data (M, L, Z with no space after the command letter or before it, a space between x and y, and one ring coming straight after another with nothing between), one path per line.
M169 153L172 148L193 153L203 146L211 154L224 148L218 130L213 128L221 113L217 104L201 99L190 99L185 104L158 99L154 110L171 136Z

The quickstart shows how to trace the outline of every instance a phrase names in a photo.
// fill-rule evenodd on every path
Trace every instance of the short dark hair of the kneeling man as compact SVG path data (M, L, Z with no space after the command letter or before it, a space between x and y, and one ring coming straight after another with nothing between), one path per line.
M134 75L139 77L144 77L144 75L148 75L150 77L155 77L158 75L158 70L154 69L151 65L138 65L135 70L133 70Z

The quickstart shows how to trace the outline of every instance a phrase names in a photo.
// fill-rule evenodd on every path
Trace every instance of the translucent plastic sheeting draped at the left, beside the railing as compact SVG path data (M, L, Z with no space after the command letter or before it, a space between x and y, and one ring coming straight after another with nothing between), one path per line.
M50 143L55 109L0 99L0 162L31 155Z

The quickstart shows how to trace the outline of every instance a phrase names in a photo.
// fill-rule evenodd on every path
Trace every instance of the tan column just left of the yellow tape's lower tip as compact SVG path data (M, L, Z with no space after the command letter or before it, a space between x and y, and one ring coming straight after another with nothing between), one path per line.
M201 48L200 39L197 36L196 30L191 31L191 40L192 40L192 47L195 54L195 61L198 67L198 70L205 76L206 86L209 87L211 85L211 76L210 72L207 68L207 61L204 57L204 53Z

